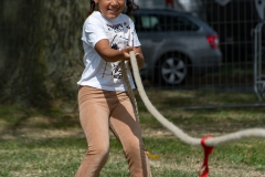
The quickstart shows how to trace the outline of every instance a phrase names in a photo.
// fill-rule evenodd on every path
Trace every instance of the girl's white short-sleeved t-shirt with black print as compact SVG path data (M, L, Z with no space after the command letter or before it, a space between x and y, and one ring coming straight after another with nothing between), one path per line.
M98 11L93 12L85 20L83 27L85 69L77 84L106 91L126 91L119 62L106 62L94 49L95 44L103 39L107 39L110 46L117 50L126 45L140 45L135 32L135 24L128 15L120 13L116 19L109 20ZM126 67L130 86L135 88L128 63L126 63Z

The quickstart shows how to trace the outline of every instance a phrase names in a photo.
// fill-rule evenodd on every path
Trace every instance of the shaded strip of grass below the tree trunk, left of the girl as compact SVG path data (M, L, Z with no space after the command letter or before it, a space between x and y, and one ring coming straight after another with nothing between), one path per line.
M70 112L61 107L0 105L0 138L7 134L17 135L18 129L21 128L64 129L70 127L80 127L76 108Z

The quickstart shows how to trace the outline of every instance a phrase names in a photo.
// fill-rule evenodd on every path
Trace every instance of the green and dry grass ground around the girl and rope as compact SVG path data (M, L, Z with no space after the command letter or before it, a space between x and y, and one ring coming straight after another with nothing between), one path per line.
M159 97L157 93L159 92ZM193 137L220 136L239 129L264 127L264 107L182 110L181 106L254 103L253 94L152 91L148 96L161 114ZM212 97L214 96L214 101ZM136 94L153 177L197 177L203 149L176 138L153 118ZM66 107L66 108L65 108ZM70 111L72 108L72 111ZM76 103L35 110L0 105L1 177L73 177L86 152ZM251 138L214 147L210 177L265 176L265 139ZM110 137L110 156L100 177L128 177L119 143Z

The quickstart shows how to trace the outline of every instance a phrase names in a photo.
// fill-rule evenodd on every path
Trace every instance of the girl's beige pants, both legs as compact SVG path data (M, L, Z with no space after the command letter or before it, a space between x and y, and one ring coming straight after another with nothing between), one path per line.
M131 177L151 177L139 122L126 92L81 86L80 122L88 149L76 177L98 177L109 154L109 128L120 142Z

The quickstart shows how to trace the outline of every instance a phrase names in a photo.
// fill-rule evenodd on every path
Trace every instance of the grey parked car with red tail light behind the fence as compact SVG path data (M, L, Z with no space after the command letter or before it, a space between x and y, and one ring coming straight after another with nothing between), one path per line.
M140 9L131 19L146 59L142 77L179 85L191 75L220 69L218 33L200 19L167 9Z

